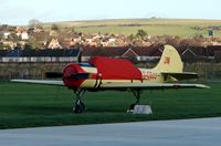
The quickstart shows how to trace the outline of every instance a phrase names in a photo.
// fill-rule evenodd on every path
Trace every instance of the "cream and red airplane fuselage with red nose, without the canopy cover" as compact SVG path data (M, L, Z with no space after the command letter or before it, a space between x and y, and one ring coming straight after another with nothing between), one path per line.
M123 79L120 74L115 77L105 77L97 67L87 63L71 63L64 71L64 84L70 88L98 88L101 85L109 83L162 83L164 76L152 69L138 69L140 79ZM114 71L113 71L114 72ZM73 77L75 75L75 77Z

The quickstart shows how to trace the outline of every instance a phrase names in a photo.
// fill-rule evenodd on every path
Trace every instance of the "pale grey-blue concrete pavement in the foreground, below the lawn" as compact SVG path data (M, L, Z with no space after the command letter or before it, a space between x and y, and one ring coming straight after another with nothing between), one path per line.
M0 146L214 146L221 117L1 129Z

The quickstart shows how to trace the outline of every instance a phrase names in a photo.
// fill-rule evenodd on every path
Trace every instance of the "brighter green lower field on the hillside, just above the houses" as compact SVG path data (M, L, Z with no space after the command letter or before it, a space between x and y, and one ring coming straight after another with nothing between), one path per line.
M179 36L194 36L197 34L207 35L208 31L197 31L188 25L143 25L143 27L88 27L76 28L75 31L84 33L116 33L116 34L136 34L137 30L145 30L149 35L179 35ZM220 31L215 33L220 35Z

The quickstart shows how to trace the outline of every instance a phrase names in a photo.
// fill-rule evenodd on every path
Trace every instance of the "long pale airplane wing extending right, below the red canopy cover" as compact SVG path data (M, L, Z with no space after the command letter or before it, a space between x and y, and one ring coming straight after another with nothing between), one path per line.
M203 84L182 84L182 83L108 83L102 84L103 90L165 90L165 88L209 88Z

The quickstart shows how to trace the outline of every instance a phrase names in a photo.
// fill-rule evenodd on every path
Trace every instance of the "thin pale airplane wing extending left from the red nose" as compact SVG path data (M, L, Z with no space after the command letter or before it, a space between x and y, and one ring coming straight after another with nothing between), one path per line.
M63 81L61 80L11 80L11 82L46 84L46 85L64 85Z

